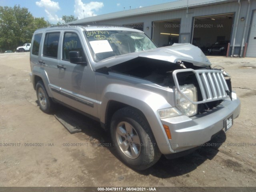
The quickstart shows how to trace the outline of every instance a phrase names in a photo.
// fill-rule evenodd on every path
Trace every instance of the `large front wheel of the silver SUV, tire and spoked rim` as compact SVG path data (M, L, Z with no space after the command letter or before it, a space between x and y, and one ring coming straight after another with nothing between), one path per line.
M110 134L120 160L135 170L149 168L161 156L148 123L134 108L114 113Z

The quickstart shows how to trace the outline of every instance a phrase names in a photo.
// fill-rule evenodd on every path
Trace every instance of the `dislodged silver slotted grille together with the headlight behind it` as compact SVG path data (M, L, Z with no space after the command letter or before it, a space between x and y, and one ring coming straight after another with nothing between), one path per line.
M175 83L176 103L178 106L182 101L186 103L186 106L191 105L198 109L197 111L194 110L193 113L186 113L187 116L211 110L226 98L232 100L231 80L230 78L225 79L221 70L181 69L174 70L172 76ZM184 89L188 85L192 86L192 88ZM195 94L186 94L188 90L196 91L194 91ZM179 108L183 109L184 107Z

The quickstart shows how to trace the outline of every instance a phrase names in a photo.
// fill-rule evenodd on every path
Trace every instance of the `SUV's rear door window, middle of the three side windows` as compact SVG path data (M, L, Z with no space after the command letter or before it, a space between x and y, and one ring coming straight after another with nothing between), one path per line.
M44 52L43 55L47 57L58 57L58 44L60 33L47 33L44 39Z

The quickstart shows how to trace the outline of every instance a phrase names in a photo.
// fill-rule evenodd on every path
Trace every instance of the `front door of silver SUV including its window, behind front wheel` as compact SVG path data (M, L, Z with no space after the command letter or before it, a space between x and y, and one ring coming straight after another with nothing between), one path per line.
M95 76L90 64L70 63L69 52L79 51L84 62L88 62L81 36L78 32L62 34L62 54L58 66L62 101L92 116L97 116Z

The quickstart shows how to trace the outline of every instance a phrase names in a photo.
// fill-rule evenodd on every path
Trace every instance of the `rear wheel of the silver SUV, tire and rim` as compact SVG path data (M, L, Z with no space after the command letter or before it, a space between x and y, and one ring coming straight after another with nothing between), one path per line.
M38 99L38 104L40 109L45 113L51 113L53 111L54 103L52 99L48 96L44 83L40 80L36 84L36 96Z

